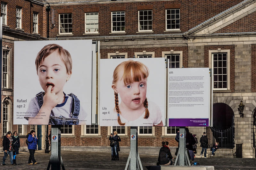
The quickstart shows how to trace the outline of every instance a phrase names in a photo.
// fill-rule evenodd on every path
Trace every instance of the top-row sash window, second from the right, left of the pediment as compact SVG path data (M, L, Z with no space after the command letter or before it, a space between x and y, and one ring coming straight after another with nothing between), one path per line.
M152 10L139 11L139 31L152 31Z

